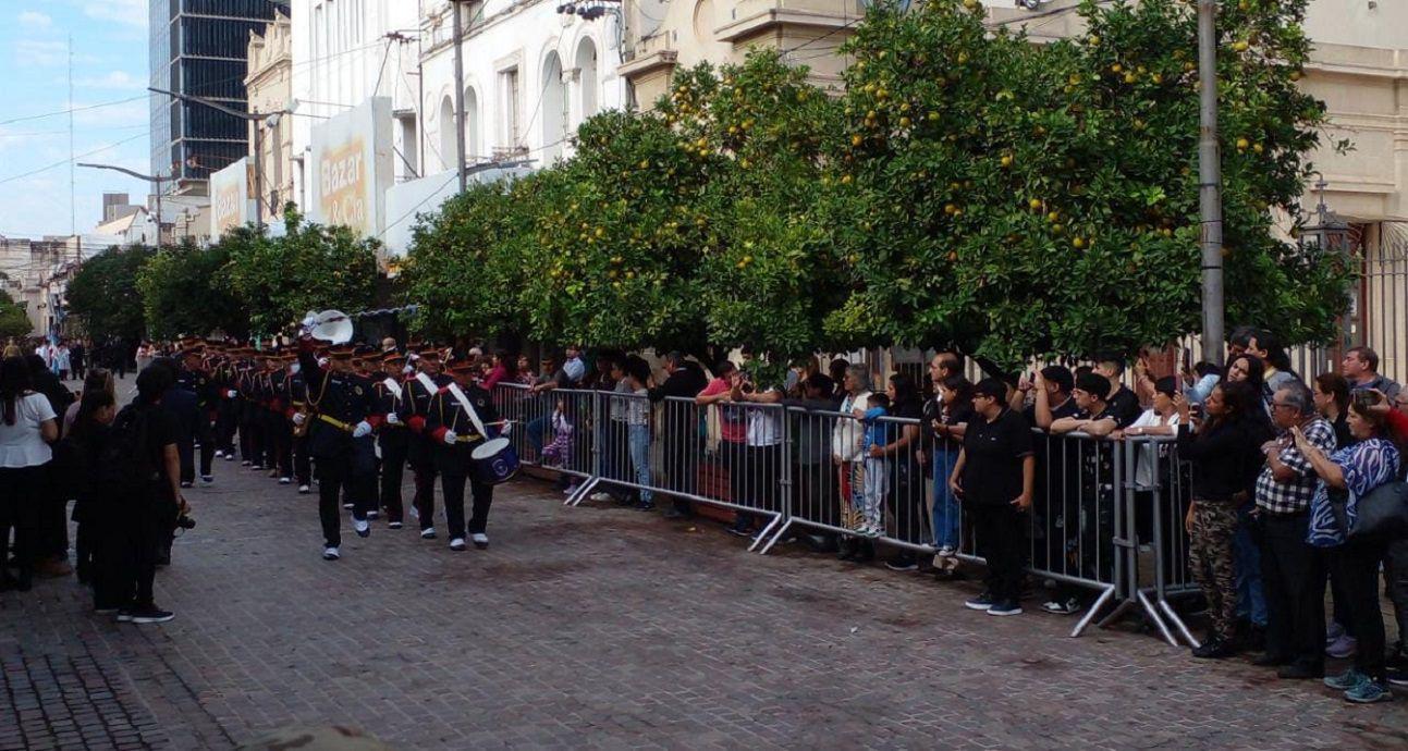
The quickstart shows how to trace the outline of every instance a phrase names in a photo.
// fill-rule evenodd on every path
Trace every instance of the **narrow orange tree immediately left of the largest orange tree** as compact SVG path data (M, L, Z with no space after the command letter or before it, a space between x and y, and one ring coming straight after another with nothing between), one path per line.
M687 70L658 108L687 148L722 159L694 208L705 231L707 336L752 346L777 377L790 357L825 346L822 322L841 293L818 214L824 143L839 108L776 51Z

